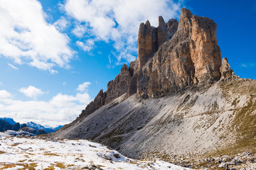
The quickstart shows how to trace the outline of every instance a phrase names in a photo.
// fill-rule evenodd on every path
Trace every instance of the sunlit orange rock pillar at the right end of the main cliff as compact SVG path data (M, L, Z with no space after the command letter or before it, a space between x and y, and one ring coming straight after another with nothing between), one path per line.
M216 37L216 24L205 17L193 16L191 35L191 59L195 67L195 81L220 79L221 55Z

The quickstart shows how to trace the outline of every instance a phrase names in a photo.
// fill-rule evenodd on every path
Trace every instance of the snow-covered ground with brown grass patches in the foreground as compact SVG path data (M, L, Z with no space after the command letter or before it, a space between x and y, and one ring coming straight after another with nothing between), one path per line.
M49 141L0 133L0 169L185 169L168 162L129 159L87 140Z

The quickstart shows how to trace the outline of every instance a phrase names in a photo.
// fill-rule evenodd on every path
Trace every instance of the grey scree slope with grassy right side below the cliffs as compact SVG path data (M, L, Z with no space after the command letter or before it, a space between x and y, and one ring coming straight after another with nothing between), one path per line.
M90 139L135 158L235 154L255 149L255 96L248 79L162 98L123 95L52 137Z

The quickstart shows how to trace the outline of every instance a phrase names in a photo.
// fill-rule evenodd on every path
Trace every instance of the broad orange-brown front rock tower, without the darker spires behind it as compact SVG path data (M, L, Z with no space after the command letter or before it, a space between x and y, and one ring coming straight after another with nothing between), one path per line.
M138 95L164 96L198 82L213 83L220 79L220 65L216 24L182 8L176 33L159 46L152 60L142 69L138 77Z

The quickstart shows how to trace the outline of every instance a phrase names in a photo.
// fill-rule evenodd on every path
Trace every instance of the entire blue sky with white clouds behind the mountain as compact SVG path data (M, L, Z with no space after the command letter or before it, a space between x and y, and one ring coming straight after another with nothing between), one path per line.
M0 117L63 125L137 57L139 23L182 7L217 23L222 57L256 79L256 1L0 0Z

